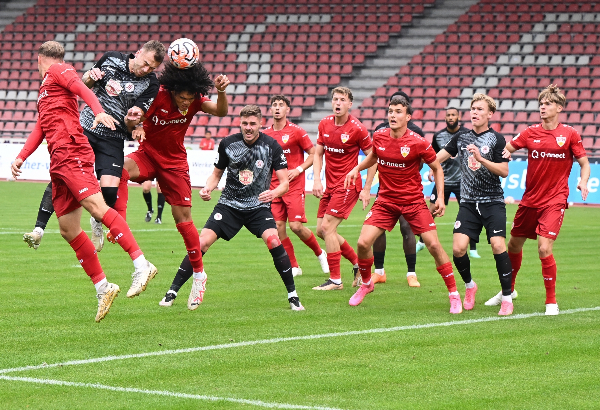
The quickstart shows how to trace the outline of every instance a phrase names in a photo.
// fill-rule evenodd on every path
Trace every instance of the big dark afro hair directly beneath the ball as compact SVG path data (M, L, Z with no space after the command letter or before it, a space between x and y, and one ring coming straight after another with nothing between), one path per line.
M214 85L211 80L211 73L206 70L200 61L187 70L180 70L167 61L164 64L163 73L158 77L158 82L168 91L175 91L176 93L187 91L196 95L196 97L208 95Z

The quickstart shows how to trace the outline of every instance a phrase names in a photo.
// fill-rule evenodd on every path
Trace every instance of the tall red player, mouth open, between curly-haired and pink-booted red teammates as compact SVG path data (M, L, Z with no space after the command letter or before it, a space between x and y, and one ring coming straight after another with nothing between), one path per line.
M358 278L358 257L346 239L337 233L337 227L343 219L348 219L350 212L362 191L362 179L351 188L344 188L344 178L358 162L358 153L371 152L371 138L364 125L348 112L352 107L352 90L337 87L331 91L331 107L334 114L327 116L319 123L316 155L314 156L313 194L320 198L317 212L317 235L325 240L329 279L314 290L343 289L340 276L340 259L350 261L353 274ZM325 183L323 191L320 174L325 155Z

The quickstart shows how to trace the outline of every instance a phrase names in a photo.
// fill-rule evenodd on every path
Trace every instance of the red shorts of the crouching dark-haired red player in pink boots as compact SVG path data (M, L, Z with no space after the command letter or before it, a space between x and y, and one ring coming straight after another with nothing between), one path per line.
M404 205L376 200L367 213L364 225L373 225L391 232L400 216L404 216L415 235L436 229L436 222L433 222L433 216L424 200Z

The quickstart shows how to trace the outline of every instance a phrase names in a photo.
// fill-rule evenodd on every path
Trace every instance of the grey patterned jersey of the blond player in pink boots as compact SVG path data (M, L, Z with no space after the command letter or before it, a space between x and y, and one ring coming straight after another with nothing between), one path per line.
M463 202L504 202L504 191L500 177L491 173L467 152L467 145L475 144L481 156L491 162L508 162L502 158L506 145L504 137L493 129L476 134L475 131L457 132L444 149L460 163L460 201Z

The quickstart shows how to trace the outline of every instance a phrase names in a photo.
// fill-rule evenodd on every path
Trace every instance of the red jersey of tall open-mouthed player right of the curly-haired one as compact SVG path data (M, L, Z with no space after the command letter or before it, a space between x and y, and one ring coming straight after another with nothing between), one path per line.
M317 145L325 148L325 183L331 190L344 186L346 175L358 164L358 153L371 148L371 138L364 125L348 115L343 125L335 125L335 116L328 116L319 123ZM362 179L356 179L356 190L361 191Z

